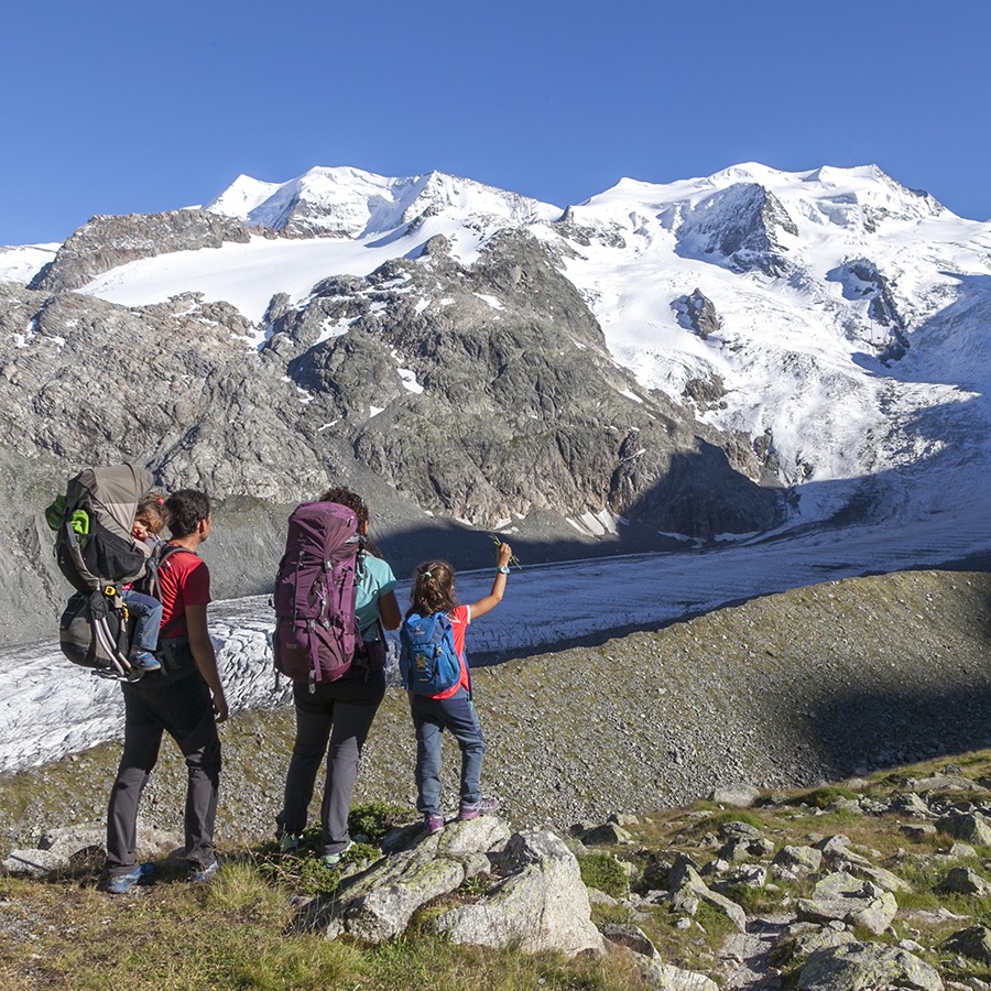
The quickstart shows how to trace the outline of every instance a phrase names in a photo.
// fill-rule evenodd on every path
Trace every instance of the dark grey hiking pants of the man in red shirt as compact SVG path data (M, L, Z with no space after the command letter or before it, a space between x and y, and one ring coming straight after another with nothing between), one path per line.
M121 686L124 745L107 812L107 870L126 874L138 862L138 803L159 759L162 733L178 744L189 780L186 786L185 856L207 867L214 853L214 818L220 780L220 739L210 690L198 671L162 684L144 679Z

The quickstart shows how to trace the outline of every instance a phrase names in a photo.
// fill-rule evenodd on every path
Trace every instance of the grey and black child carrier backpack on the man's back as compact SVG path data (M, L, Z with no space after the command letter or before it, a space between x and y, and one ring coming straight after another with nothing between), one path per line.
M127 678L128 610L121 586L144 574L148 555L131 536L151 472L133 465L85 468L45 510L55 531L55 559L76 589L59 621L62 652L75 664Z

